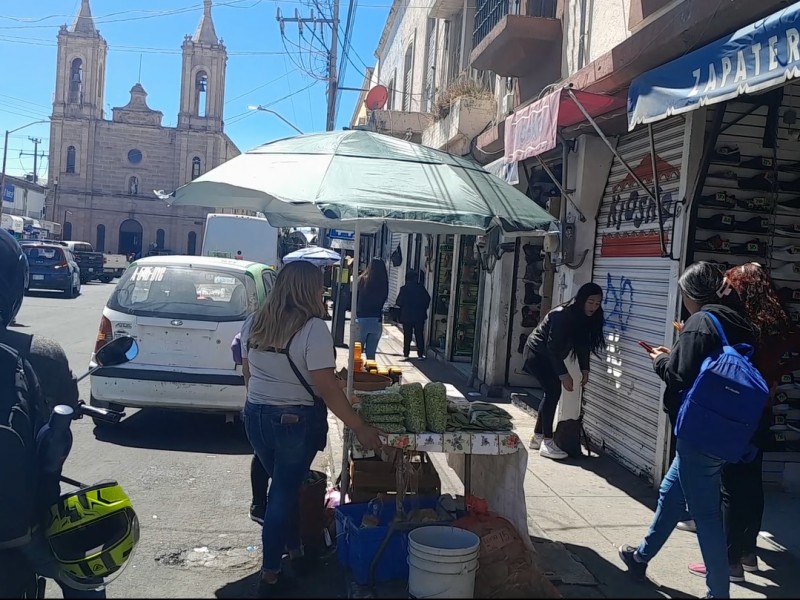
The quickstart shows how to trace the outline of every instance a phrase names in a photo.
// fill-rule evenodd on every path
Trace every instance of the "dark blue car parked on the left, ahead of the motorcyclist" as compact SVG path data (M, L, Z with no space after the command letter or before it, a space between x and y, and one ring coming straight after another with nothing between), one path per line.
M67 298L81 293L81 270L69 248L41 242L22 245L28 259L29 290L60 290Z

